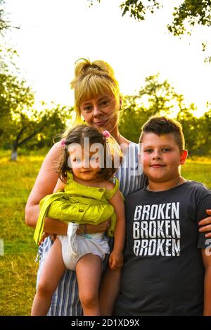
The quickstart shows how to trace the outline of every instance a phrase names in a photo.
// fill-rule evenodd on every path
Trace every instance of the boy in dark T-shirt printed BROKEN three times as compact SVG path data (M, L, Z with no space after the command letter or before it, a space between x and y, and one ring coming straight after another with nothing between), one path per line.
M177 121L152 117L142 129L148 186L125 201L127 242L114 315L211 315L210 240L198 234L211 192L180 176L187 151Z

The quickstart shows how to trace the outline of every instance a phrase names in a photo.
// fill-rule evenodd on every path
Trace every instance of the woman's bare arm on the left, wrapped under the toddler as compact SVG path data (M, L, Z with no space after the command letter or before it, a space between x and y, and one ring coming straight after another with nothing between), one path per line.
M56 162L59 160L61 152L60 143L56 143L46 155L41 165L41 169L34 183L34 187L30 193L25 207L25 223L31 227L35 227L39 216L39 202L47 194L52 194L58 180L58 173L55 171ZM49 233L65 235L68 225L65 223L46 218L44 230Z

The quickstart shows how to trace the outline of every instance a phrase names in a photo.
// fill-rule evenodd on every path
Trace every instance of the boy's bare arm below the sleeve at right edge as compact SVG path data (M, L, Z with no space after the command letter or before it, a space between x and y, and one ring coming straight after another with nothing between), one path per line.
M207 249L202 249L203 263L205 266L204 279L204 316L211 316L211 253Z

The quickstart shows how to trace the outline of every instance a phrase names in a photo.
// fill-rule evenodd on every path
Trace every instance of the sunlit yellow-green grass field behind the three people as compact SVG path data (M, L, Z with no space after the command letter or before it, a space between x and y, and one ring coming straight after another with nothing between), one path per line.
M27 197L34 184L44 151L23 152L17 162L9 161L10 152L0 150L0 315L30 315L35 293L37 248L34 230L25 225ZM189 159L182 175L211 188L211 159Z

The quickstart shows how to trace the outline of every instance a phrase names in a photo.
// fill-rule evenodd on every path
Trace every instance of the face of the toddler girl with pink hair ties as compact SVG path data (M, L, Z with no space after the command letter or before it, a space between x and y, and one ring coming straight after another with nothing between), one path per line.
M97 173L101 171L98 154L91 150L85 150L78 145L70 147L69 159L72 173L81 180L99 180Z

